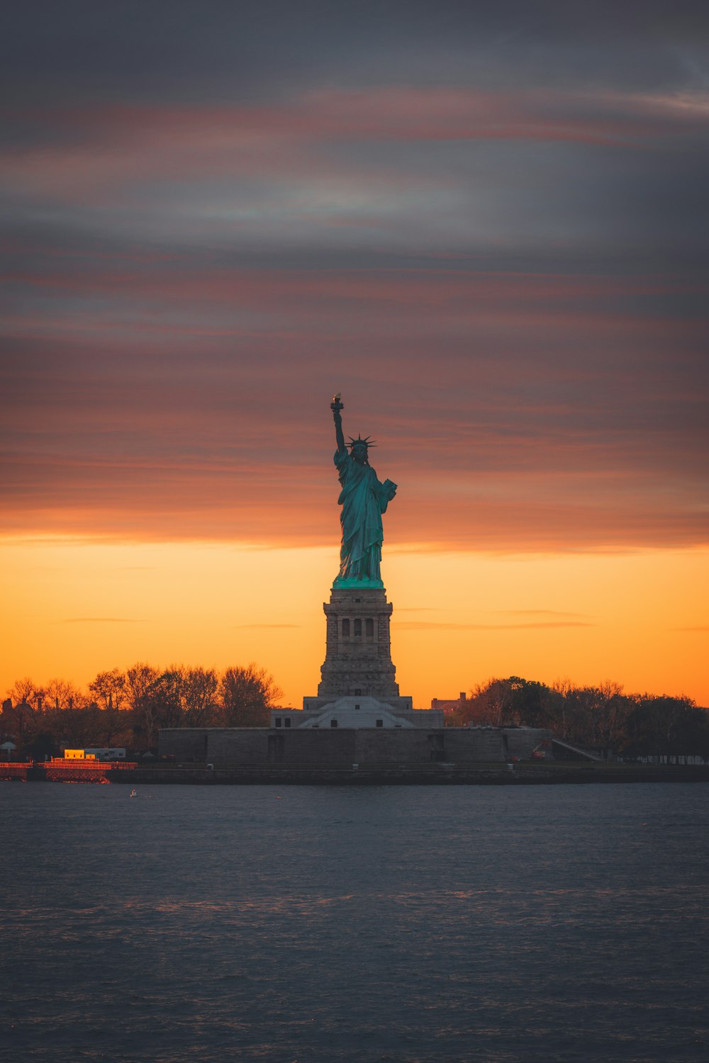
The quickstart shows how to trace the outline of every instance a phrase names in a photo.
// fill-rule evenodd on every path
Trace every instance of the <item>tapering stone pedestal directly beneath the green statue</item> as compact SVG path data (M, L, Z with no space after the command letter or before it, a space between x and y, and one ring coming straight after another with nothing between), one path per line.
M391 662L391 605L382 587L333 587L323 609L327 618L325 660L317 697L304 709L320 709L341 697L372 697L392 708L412 708L401 697Z

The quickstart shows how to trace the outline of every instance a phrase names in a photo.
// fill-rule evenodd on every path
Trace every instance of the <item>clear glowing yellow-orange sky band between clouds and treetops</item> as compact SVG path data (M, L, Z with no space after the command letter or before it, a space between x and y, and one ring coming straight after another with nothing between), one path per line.
M82 686L137 660L270 671L315 694L337 549L5 539L4 690ZM617 680L709 705L709 551L483 554L385 550L392 659L423 708L492 676Z

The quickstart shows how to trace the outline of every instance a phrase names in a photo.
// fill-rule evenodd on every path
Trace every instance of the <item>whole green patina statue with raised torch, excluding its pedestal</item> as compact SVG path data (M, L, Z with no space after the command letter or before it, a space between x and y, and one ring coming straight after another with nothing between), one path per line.
M379 564L384 529L382 513L396 493L390 479L379 483L368 459L369 437L357 437L344 442L340 395L331 403L335 418L337 453L335 465L342 490L338 499L342 544L340 546L340 573L333 587L383 587ZM348 446L350 451L348 452Z

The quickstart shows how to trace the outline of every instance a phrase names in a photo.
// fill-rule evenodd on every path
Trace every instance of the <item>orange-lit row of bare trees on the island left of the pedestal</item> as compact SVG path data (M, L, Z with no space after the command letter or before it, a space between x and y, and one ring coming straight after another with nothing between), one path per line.
M280 697L273 677L254 663L218 672L139 662L125 672L99 672L86 690L26 677L6 692L0 742L13 741L19 755L35 760L63 748L154 753L161 727L268 727Z

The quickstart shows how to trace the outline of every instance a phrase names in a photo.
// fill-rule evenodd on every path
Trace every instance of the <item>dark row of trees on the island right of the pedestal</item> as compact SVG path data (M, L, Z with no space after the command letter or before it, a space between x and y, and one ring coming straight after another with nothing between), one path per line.
M445 712L448 726L548 728L585 748L621 757L709 762L709 711L690 697L626 694L615 682L573 687L509 676L478 685Z

